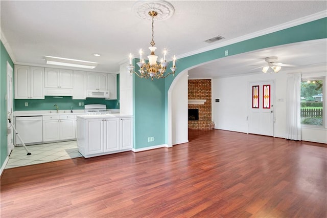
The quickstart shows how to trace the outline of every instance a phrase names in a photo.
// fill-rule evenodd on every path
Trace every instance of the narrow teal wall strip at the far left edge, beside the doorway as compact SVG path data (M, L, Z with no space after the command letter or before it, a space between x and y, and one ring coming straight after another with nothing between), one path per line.
M0 166L7 158L7 61L14 69L14 64L5 49L2 41L0 42Z

